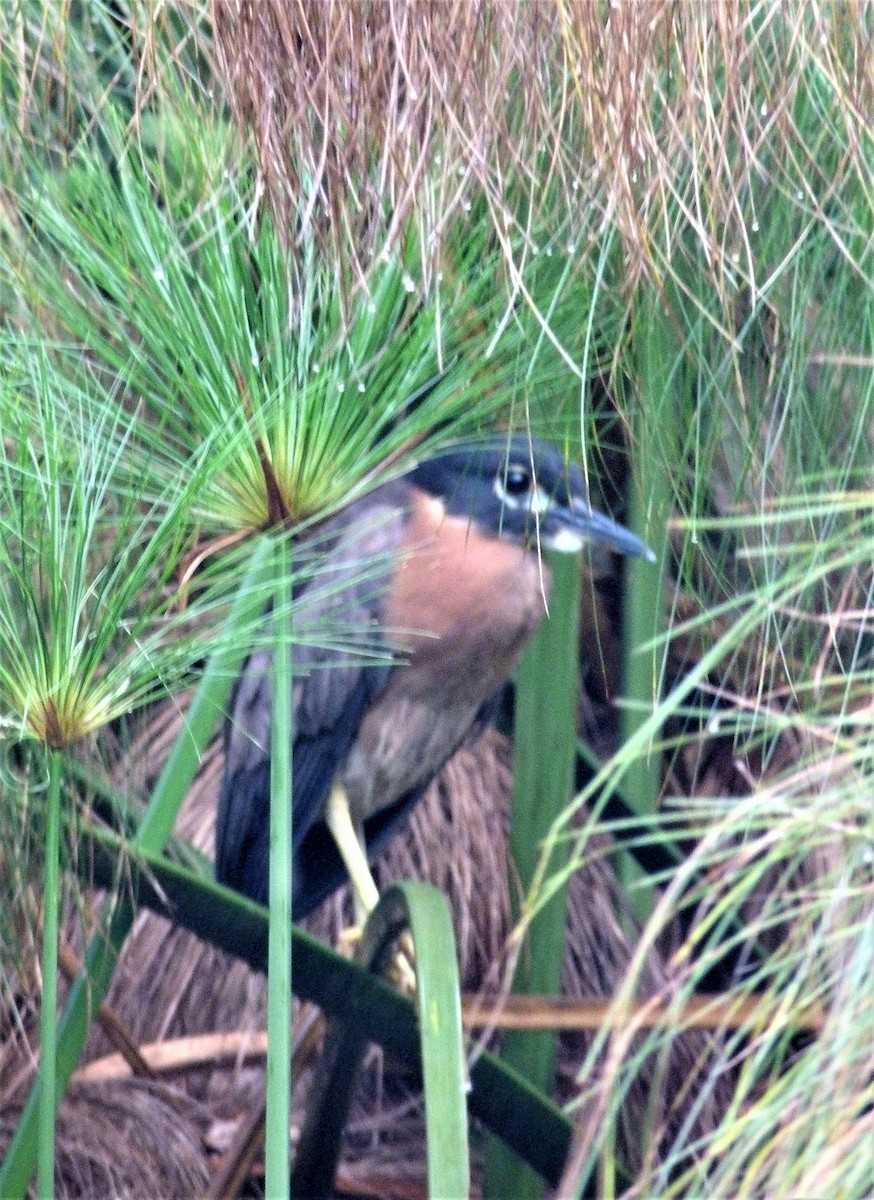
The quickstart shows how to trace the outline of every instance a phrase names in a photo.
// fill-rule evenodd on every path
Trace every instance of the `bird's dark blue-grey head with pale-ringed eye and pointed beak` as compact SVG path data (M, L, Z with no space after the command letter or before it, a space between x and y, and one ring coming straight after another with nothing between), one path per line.
M492 437L427 458L408 475L449 516L486 534L568 554L586 542L654 562L640 538L592 509L576 463L527 437Z

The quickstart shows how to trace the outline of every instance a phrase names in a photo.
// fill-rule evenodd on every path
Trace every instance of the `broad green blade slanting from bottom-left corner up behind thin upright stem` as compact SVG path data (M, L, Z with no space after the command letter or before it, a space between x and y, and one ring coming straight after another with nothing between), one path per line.
M249 574L228 618L231 629L237 628L246 618L251 620L252 604L262 604L263 590L258 584L263 584L271 566L271 546L264 540L252 554ZM257 601L253 596L258 598ZM245 646L235 646L232 638L227 638L221 650L210 659L186 714L185 727L176 738L134 838L133 845L138 851L155 853L169 836L179 808L199 767L200 755L215 730L216 719L226 709L233 679L243 665L245 654ZM113 907L109 920L91 938L83 971L70 989L58 1025L55 1103L64 1094L79 1061L91 1016L109 988L118 953L131 929L133 917L134 910L130 904L121 902ZM4 1200L23 1198L36 1168L36 1129L41 1092L37 1078L0 1164L0 1196L4 1196Z

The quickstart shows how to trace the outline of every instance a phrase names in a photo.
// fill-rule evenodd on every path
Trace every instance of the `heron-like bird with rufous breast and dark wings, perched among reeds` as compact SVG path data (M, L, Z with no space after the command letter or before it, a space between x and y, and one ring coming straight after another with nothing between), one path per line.
M541 548L654 559L594 510L579 464L525 434L460 443L353 500L295 547L318 563L295 628L357 650L293 648L292 918L347 878L364 919L370 863L455 751L495 715L550 590ZM267 904L271 652L255 650L225 724L215 872Z

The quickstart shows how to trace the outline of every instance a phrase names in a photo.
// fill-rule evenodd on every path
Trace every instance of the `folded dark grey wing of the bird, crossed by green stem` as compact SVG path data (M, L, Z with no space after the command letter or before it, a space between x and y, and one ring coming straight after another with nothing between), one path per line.
M403 541L407 497L402 484L381 488L325 523L318 545L297 550L299 560L311 556L318 570L295 595L295 634L304 638L293 650L295 862L367 707L393 670L388 661L369 661L364 653L333 646L343 644L343 635L354 631L357 649L387 649L379 635L381 601ZM269 650L258 650L235 685L216 821L216 878L262 904L268 899L270 671ZM342 875L334 887L341 882ZM310 894L313 886L305 872L295 870L295 917L316 907L318 901Z

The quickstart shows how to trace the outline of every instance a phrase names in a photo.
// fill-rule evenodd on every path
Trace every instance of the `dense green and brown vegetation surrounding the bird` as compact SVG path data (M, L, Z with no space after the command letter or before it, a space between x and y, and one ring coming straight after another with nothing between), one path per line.
M283 529L496 427L562 442L658 565L559 580L511 818L495 734L384 875L450 895L466 992L570 997L534 1009L574 1025L557 1073L553 1039L504 1039L567 1105L573 1138L545 1097L535 1126L561 1195L874 1193L873 40L855 4L4 6L0 1193L229 1194L234 1162L256 1187L265 1001L216 947L263 971L267 926L192 848L228 689L265 637L363 649L291 600L318 560ZM199 940L134 925L132 878ZM85 1058L112 1027L134 1074L77 1076L55 1129L113 974ZM137 1048L206 1030L247 1037L188 1045L174 1087ZM513 1142L478 1038L472 1108ZM396 1075L366 1068L340 1183L453 1194ZM456 1084L426 1123L466 1177ZM473 1146L475 1190L541 1188Z

